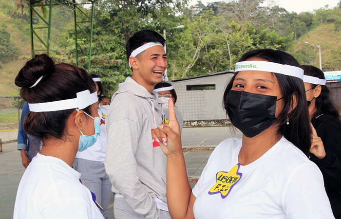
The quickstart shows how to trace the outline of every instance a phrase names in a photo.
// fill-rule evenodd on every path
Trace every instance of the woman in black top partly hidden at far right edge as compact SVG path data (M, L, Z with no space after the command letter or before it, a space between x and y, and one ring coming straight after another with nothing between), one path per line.
M304 87L313 125L310 160L320 168L335 218L341 219L341 121L324 73L310 65L304 70Z

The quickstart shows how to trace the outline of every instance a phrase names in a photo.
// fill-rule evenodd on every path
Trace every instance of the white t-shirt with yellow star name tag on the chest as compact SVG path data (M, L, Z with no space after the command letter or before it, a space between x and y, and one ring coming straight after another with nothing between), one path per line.
M229 138L212 152L192 190L195 219L334 218L321 171L299 148L283 137L238 169L241 146L242 139Z

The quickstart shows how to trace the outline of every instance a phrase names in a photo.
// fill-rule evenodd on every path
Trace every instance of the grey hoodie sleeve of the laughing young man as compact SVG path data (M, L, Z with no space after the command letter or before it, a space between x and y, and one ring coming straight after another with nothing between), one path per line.
M135 114L139 108L132 103L129 105L117 103L109 110L106 120L108 145L105 169L114 188L136 213L144 215L147 219L156 219L158 217L156 203L139 180L134 157L141 133L141 124L137 122L138 116Z

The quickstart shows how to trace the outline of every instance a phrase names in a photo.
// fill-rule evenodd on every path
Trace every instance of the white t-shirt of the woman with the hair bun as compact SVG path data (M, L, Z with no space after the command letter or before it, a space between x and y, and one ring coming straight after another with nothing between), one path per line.
M14 219L103 219L80 173L64 161L37 154L18 187Z

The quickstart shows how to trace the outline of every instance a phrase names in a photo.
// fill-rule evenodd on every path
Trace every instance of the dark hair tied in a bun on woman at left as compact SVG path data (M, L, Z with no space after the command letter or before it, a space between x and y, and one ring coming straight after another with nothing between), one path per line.
M41 81L33 88L38 78ZM21 87L20 95L28 103L44 103L76 98L76 93L89 90L96 91L94 81L84 69L69 64L54 64L45 54L35 55L19 71L15 84ZM92 114L91 106L83 109ZM57 138L64 139L67 134L66 123L73 112L58 110L51 112L28 112L24 118L24 131L39 140Z

